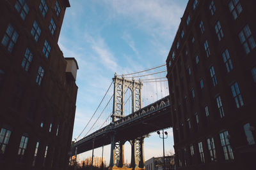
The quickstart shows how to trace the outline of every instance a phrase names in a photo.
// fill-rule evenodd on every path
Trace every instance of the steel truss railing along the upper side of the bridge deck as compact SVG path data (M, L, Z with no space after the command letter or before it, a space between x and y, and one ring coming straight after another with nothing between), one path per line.
M122 117L119 120L116 120L115 122L111 122L109 125L102 127L98 131L93 132L92 134L84 137L83 139L80 139L74 144L74 146L77 146L83 143L84 141L88 141L89 139L93 139L95 138L95 136L99 136L100 134L104 134L108 131L114 131L117 127L120 127L121 125L125 125L134 120L138 120L142 117L150 115L151 113L154 113L168 106L170 106L169 96L163 97L162 99L159 99L158 101L149 104L148 106L145 106L144 108L141 108L140 110L135 111L134 113L131 113L126 117Z

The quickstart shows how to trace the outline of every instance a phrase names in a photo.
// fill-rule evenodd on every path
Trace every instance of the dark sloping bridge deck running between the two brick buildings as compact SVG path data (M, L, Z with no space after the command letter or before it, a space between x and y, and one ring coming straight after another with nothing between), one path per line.
M80 139L74 143L72 155L75 154L75 148L77 154L92 150L93 141L94 148L109 145L113 133L115 141L129 141L168 127L172 125L169 96L166 96Z

